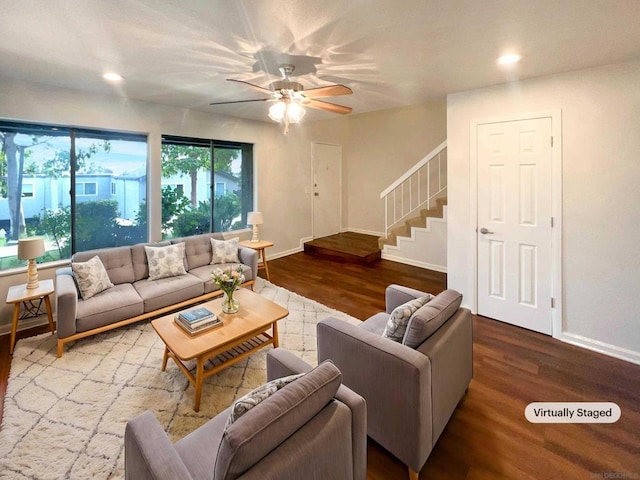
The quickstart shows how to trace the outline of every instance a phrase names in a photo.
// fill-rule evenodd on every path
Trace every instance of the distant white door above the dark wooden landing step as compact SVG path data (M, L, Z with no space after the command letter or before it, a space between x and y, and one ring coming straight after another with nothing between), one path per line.
M313 165L313 237L340 232L342 204L342 147L311 144Z

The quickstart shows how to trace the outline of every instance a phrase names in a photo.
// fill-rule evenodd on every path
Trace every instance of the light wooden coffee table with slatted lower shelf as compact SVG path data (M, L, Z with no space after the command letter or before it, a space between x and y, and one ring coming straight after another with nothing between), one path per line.
M238 313L222 313L222 297L198 306L214 312L224 325L195 336L176 325L175 314L151 322L165 344L162 371L167 368L167 360L173 358L196 389L193 406L196 412L200 410L203 380L267 345L277 347L278 320L289 314L286 308L247 288L240 288L234 296L240 302ZM189 360L196 361L195 375L185 364ZM207 360L213 366L205 370Z

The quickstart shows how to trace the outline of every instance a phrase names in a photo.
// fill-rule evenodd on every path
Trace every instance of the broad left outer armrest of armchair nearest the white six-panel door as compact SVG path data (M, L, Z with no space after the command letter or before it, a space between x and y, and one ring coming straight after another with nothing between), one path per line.
M419 471L432 448L429 358L327 318L318 323L318 361L327 359L342 372L343 384L364 397L369 436Z

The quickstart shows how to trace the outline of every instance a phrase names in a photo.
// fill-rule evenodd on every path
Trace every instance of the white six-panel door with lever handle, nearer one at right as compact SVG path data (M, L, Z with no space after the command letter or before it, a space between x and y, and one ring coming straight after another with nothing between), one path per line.
M552 332L551 118L477 126L478 314Z

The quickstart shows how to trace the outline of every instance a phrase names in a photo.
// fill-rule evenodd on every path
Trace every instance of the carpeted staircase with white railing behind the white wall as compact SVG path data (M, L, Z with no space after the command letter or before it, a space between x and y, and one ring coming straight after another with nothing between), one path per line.
M382 258L446 272L447 142L393 182L381 194L385 202Z

